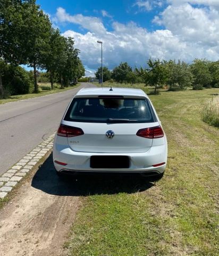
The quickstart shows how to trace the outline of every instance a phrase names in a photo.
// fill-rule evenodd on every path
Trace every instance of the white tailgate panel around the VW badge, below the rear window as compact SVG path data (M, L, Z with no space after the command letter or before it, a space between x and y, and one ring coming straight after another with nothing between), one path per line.
M80 127L85 133L82 136L68 138L68 145L73 151L96 153L143 153L153 143L153 139L136 136L139 129L157 126L156 123L106 124L63 121L62 124ZM107 131L113 131L114 137L108 139Z

